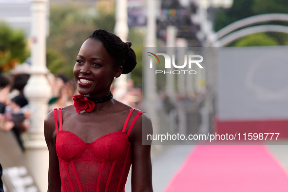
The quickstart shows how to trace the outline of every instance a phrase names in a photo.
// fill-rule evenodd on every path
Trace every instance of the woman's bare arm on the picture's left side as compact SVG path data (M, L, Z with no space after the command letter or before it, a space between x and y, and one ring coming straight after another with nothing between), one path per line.
M54 114L50 112L44 121L44 135L49 150L48 192L61 192L59 162L54 143L55 134Z

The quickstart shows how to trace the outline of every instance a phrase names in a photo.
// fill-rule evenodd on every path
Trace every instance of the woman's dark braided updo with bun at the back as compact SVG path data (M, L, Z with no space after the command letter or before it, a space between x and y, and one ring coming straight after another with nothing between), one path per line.
M136 66L136 54L131 48L131 42L123 42L118 36L107 32L104 29L98 29L89 37L102 42L109 55L115 59L117 66L122 66L122 74L132 72Z

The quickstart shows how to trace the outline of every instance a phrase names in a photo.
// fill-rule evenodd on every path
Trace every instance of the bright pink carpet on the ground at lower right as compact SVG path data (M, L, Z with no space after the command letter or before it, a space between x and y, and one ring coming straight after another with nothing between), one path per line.
M288 174L266 146L201 145L164 192L288 192Z

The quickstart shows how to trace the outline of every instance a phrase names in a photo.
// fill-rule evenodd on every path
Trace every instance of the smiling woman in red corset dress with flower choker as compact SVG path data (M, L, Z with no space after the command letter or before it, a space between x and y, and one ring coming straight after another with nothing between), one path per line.
M151 120L110 92L136 65L130 46L105 30L82 44L73 70L80 95L45 119L48 192L124 192L131 164L132 192L153 191L151 146L141 143L142 124L152 133Z

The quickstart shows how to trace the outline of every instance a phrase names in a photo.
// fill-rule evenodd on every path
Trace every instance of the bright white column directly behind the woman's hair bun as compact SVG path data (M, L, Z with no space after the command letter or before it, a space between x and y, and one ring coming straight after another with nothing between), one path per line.
M126 42L129 28L128 28L128 13L127 13L127 0L115 0L116 12L115 12L115 28L114 33L121 38L122 41ZM115 79L115 99L128 104L127 97L127 75L122 74L120 77Z

